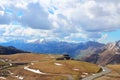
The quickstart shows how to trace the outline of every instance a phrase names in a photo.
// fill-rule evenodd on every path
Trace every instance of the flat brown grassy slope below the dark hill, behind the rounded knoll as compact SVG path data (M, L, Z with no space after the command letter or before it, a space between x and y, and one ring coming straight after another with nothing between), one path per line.
M0 55L0 58L3 59L7 58L14 62L31 62L31 61L51 60L59 56L61 55L23 53L23 54L13 54L13 55Z

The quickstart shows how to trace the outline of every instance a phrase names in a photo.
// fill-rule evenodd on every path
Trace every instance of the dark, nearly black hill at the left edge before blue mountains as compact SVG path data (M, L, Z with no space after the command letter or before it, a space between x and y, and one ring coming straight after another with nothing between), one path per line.
M13 46L8 46L8 47L0 46L0 55L8 55L15 53L28 53L28 52L16 49Z

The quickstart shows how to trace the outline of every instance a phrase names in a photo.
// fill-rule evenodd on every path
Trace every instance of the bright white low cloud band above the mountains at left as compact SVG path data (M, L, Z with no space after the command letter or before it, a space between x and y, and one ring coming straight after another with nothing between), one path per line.
M32 29L20 25L0 25L1 41L51 39L54 37L52 34L49 30Z

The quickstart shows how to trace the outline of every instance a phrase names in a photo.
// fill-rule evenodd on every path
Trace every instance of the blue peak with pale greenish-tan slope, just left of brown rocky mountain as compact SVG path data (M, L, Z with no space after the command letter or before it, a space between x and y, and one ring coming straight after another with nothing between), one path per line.
M77 50L78 54L77 54L76 58L80 59L80 58L89 56L91 54L98 54L99 52L101 52L101 49L103 46L104 46L104 44L98 43L98 42L93 42L93 41L88 41L84 44L80 44L79 47L81 47L83 49L80 49L78 47L78 50Z

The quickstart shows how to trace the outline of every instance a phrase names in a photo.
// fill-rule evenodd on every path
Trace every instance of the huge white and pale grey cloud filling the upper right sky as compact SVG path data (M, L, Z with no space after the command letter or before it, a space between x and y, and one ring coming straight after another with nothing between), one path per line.
M57 10L50 15L55 32L69 36L72 33L84 33L88 38L101 38L102 32L120 29L120 4L117 1L54 1ZM50 6L51 7L51 6ZM52 9L52 7L51 7ZM66 34L66 35L65 35Z

